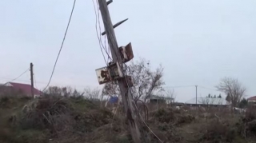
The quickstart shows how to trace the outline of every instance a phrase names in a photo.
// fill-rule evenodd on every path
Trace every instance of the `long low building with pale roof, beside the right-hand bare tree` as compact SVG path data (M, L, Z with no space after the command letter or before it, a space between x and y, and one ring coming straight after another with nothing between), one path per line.
M229 105L225 98L222 97L196 97L185 102L190 106L227 106Z

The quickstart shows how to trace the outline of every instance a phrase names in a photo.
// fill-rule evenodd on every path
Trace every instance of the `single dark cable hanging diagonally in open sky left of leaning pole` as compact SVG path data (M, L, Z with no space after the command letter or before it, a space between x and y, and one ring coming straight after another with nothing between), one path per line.
M66 32L65 32L64 38L63 38L63 40L62 40L62 46L61 46L60 50L58 51L58 56L57 56L56 61L55 61L55 63L54 63L54 69L53 69L53 71L52 71L52 73L51 73L51 75L50 75L50 80L49 80L49 82L47 83L46 88L50 85L51 78L52 78L53 75L54 75L54 70L55 70L55 67L56 67L57 62L58 62L58 57L59 57L59 55L61 54L62 47L63 47L63 44L64 44L64 42L65 42L65 38L66 38L66 33L67 33L67 31L69 30L70 21L71 21L71 18L72 18L72 15L73 15L73 11L74 11L75 2L76 2L76 0L74 0L74 4L73 4L72 10L71 10L71 14L70 14L70 20L69 20L69 22L68 22L68 24L67 24L67 26L66 26ZM46 89L46 88L45 88L45 89ZM45 89L43 89L42 91L44 91Z

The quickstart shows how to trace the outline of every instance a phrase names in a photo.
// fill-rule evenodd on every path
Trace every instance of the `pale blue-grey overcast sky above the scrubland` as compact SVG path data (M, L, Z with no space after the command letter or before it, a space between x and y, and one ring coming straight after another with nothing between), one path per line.
M73 2L0 1L1 82L33 62L37 87L46 86ZM166 86L198 85L198 96L206 97L218 94L214 85L225 76L256 95L255 7L255 0L116 0L109 9L113 23L129 18L115 33L119 46L132 42L134 60L146 58L154 68L161 63ZM77 0L51 85L95 88L95 69L102 66L93 2ZM18 81L29 83L30 74ZM194 86L174 90L178 101L195 97Z

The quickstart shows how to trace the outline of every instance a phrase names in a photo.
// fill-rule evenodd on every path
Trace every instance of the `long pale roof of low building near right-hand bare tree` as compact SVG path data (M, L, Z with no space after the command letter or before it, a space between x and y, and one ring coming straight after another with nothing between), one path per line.
M186 101L185 104L191 105L228 105L225 98L219 97L198 97L198 101L196 102L196 97Z

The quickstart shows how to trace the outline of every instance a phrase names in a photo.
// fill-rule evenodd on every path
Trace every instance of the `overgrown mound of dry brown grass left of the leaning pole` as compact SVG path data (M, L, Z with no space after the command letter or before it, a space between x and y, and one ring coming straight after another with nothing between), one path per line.
M2 102L6 104L6 99ZM85 99L46 97L26 105L23 111L18 105L15 116L0 117L1 142L101 142L118 140L114 133L126 135L126 129L117 120L110 128L113 117L110 111ZM7 109L14 111L6 107L1 113Z

